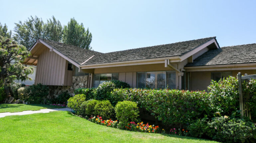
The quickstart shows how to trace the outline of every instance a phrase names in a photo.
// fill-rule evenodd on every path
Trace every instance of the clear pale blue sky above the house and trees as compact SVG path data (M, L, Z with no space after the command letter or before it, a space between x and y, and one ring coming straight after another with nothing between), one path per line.
M98 52L216 36L220 47L256 43L256 1L249 0L0 0L0 22L74 17L92 33Z

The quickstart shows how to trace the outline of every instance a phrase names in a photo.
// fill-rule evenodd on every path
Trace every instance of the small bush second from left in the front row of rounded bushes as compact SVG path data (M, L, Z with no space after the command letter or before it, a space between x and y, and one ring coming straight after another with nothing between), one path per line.
M99 101L95 99L84 101L81 105L83 115L94 115L94 107L97 103Z

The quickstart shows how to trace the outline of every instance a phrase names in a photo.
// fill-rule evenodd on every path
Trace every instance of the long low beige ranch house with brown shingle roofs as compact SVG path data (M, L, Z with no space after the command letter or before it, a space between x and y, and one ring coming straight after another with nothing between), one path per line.
M256 44L220 48L216 37L110 53L39 38L29 51L24 63L37 66L35 84L58 90L109 80L132 88L205 90L211 80L256 74Z

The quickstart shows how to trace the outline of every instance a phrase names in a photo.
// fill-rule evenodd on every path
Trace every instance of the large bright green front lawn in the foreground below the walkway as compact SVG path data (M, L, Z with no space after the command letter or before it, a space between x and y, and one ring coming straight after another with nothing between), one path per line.
M67 111L0 118L1 143L217 143L97 125Z

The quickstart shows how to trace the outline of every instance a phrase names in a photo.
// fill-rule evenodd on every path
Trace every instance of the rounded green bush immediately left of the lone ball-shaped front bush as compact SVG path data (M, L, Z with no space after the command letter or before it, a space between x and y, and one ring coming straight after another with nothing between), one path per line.
M103 119L114 117L114 107L108 100L99 101L94 107L95 115L101 116Z

